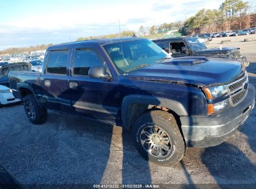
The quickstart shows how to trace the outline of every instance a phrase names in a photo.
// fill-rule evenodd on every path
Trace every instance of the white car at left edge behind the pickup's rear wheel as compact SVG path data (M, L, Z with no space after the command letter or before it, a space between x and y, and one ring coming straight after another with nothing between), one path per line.
M12 90L7 86L0 85L0 107L4 104L11 104L19 102L20 100L15 98L12 94Z

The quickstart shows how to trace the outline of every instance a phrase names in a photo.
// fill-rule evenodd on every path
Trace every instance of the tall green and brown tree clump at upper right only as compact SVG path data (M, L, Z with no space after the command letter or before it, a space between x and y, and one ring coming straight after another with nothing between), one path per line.
M181 32L184 35L193 35L255 27L255 21L252 21L255 14L250 11L247 1L225 0L219 9L201 9L186 19Z

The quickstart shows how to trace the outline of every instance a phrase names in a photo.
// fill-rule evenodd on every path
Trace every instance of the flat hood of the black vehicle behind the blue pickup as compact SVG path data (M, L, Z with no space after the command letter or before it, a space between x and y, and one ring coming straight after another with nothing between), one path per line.
M239 51L239 47L223 47L221 50L220 48L206 48L203 50L194 50L194 55L215 55L215 54L222 54L222 53L230 53L232 51Z

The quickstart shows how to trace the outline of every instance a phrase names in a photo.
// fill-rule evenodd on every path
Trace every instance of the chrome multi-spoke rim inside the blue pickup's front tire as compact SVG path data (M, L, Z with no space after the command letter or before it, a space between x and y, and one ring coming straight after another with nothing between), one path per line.
M140 134L141 145L154 157L165 157L171 152L172 144L168 134L157 126L147 126Z

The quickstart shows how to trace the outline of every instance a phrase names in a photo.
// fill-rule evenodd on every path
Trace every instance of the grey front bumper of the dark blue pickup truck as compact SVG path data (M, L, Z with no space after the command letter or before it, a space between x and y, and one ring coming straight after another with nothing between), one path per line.
M219 145L231 137L249 118L255 104L255 88L249 84L245 99L212 116L182 116L181 129L188 147Z

